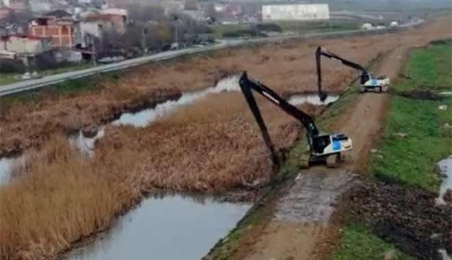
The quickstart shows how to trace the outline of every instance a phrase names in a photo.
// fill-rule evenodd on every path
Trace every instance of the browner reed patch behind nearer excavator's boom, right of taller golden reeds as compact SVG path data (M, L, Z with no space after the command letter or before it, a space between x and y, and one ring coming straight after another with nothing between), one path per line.
M212 94L149 127L108 128L96 153L135 151L143 158L138 161L142 177L154 189L225 192L256 188L268 183L272 164L246 106L241 93ZM288 148L301 127L272 105L263 107L277 148Z

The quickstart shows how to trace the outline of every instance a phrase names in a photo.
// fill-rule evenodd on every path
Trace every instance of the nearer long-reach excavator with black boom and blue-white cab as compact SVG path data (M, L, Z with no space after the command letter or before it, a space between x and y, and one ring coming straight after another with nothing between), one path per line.
M308 148L310 149L310 159L305 166L309 166L309 164L314 161L325 161L327 166L336 167L340 161L341 153L351 150L352 142L347 135L344 135L343 133L320 133L310 115L297 107L290 105L290 103L282 99L276 92L264 86L263 83L249 78L246 72L242 73L239 85L244 98L247 100L249 108L262 131L262 138L264 138L264 142L272 155L274 165L279 165L279 157L275 153L275 146L271 141L268 129L260 113L258 103L255 101L251 90L264 96L268 101L271 101L271 103L277 105L277 107L284 110L284 112L296 118L305 127Z

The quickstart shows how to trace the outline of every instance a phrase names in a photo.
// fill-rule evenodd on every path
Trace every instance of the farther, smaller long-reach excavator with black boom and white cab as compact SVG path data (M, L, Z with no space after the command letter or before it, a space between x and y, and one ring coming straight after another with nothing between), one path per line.
M345 60L342 57L339 57L337 54L328 51L323 47L318 47L316 49L316 65L317 65L317 86L320 95L321 101L325 101L327 95L322 92L322 67L321 67L321 57L325 56L331 60L336 60L345 66L349 66L358 70L360 74L360 83L361 83L361 92L367 92L368 90L378 91L378 92L387 92L390 84L390 79L386 76L378 76L374 77L372 73L369 73L366 68L357 64L355 62L351 62L349 60Z

